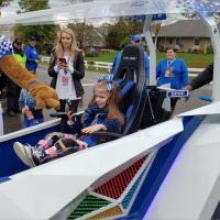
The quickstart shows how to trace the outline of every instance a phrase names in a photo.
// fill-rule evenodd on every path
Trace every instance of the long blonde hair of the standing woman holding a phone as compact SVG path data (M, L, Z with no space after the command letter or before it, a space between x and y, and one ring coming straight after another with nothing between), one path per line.
M55 55L57 57L57 62L64 55L64 47L62 45L62 34L63 33L68 34L72 37L72 45L70 45L70 48L69 48L69 52L68 52L69 53L68 56L70 58L72 64L74 64L76 52L81 52L81 50L78 48L75 34L70 29L63 29L58 32L57 44L55 46Z

